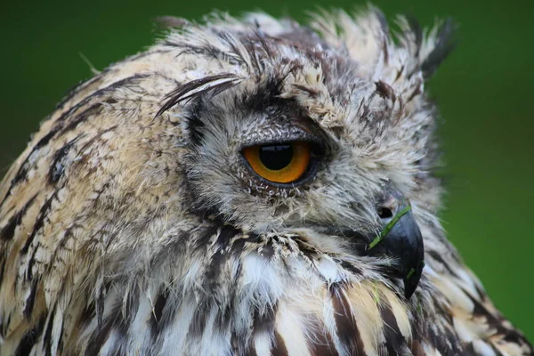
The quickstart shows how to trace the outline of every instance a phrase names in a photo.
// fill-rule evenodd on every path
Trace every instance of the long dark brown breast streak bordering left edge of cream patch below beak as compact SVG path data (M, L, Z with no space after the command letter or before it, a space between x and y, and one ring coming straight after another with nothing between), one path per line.
M351 305L344 296L343 287L340 284L333 284L329 289L339 341L344 344L350 355L366 355L360 330L352 316Z

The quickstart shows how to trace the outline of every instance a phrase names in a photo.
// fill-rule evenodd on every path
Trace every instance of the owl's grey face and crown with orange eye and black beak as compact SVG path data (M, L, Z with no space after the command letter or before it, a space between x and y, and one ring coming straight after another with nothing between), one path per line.
M425 79L452 48L450 23L423 36L400 18L392 38L375 9L310 27L210 22L181 22L152 49L174 51L185 71L156 114L182 132L185 206L239 231L380 256L415 273L411 295L418 223L435 223L441 194Z

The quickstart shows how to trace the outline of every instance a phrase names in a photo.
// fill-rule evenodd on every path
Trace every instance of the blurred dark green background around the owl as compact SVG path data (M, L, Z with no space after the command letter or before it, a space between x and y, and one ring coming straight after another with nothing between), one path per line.
M477 4L478 3L478 4ZM443 123L449 195L442 220L498 308L534 341L534 6L528 1L376 0L392 19L409 13L426 26L452 17L457 50L430 84ZM354 1L140 0L0 4L0 175L70 86L146 48L152 19L200 19L213 9L263 9L305 20L321 7Z

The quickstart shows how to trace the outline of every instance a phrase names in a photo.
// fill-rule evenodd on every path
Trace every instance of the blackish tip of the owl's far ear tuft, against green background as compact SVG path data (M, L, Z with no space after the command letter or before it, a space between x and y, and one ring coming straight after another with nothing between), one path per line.
M433 73L440 66L441 62L447 58L449 53L454 50L457 45L457 40L453 39L455 35L456 26L450 19L443 22L438 29L436 36L436 43L433 51L428 54L425 61L421 63L421 71L425 78L432 77Z

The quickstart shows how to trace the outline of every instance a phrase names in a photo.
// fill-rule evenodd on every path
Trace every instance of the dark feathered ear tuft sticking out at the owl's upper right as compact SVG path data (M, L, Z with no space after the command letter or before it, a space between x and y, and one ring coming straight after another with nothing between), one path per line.
M426 38L427 50L425 53L421 53L420 57L421 71L425 79L433 76L436 69L440 67L441 62L456 47L456 30L456 23L451 19L447 19L441 25L436 26Z

